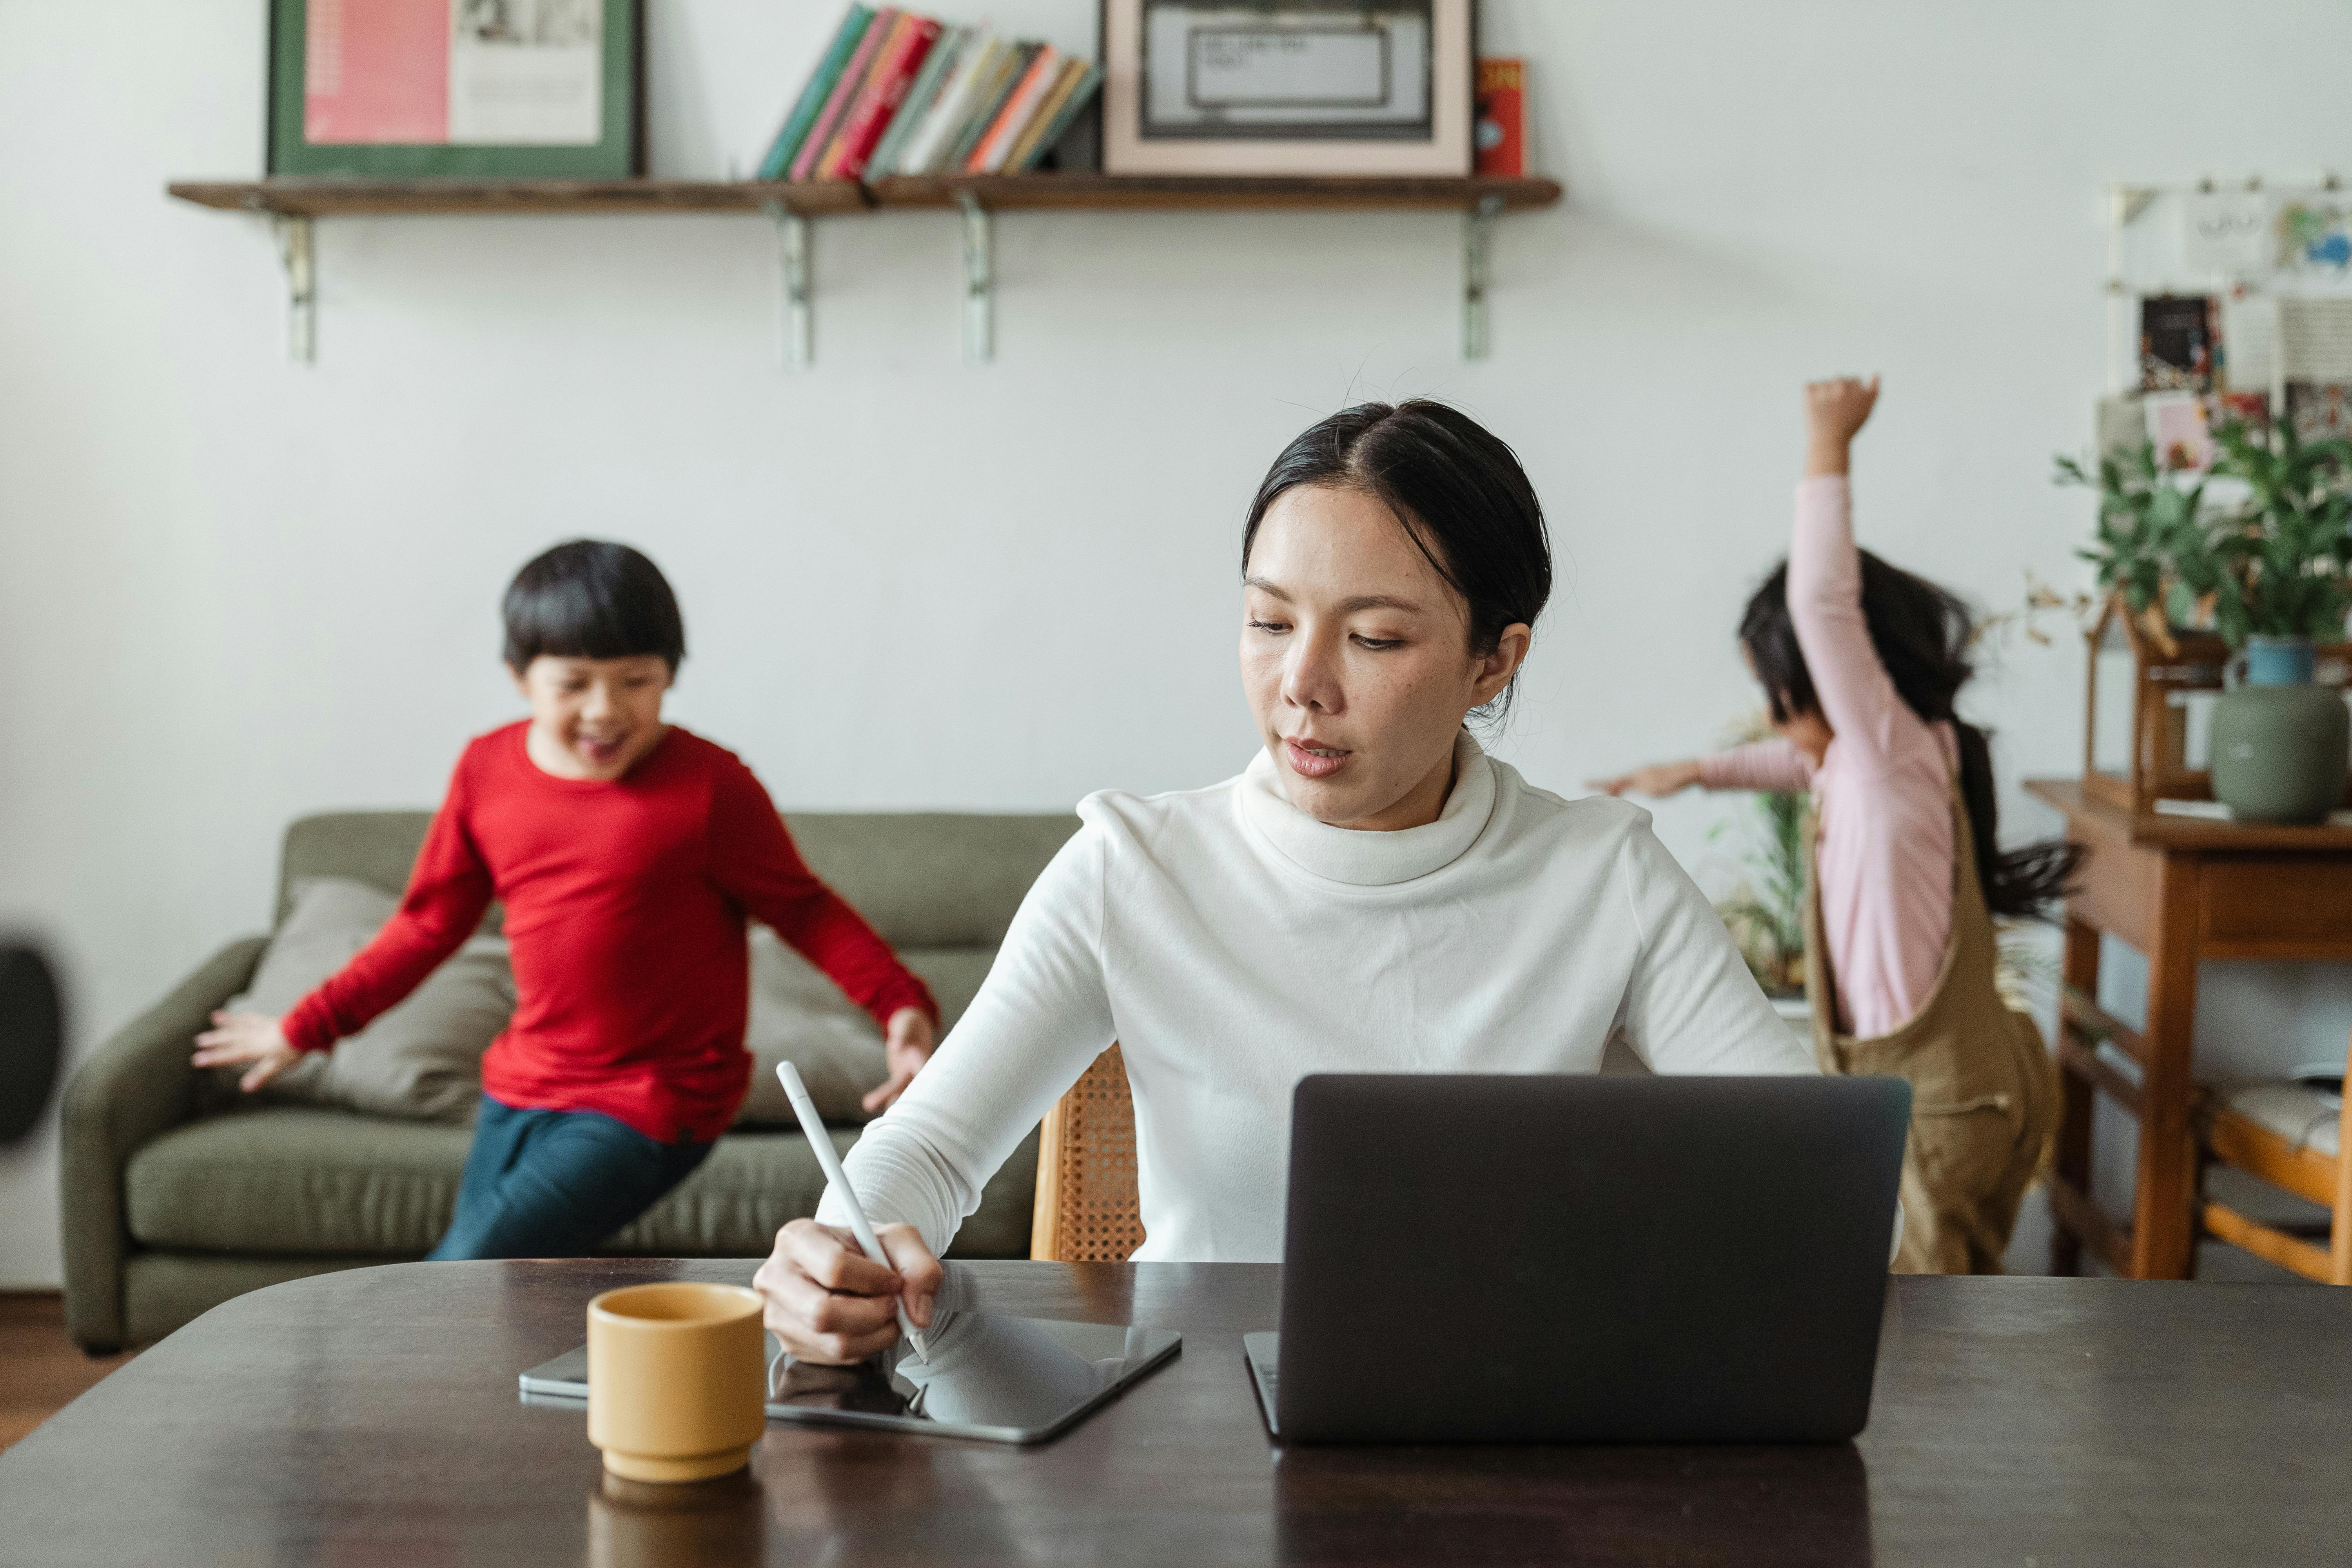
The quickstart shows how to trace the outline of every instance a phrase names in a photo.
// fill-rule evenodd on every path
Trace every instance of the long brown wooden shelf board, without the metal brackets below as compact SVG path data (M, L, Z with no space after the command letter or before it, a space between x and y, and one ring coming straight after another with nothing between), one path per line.
M971 174L887 179L858 186L828 181L694 179L252 179L176 181L169 195L226 212L289 219L341 214L466 212L764 212L830 216L873 207L960 207L969 195L988 212L1200 212L1418 207L1472 212L1494 197L1501 209L1550 207L1550 179L1242 179L1188 174Z

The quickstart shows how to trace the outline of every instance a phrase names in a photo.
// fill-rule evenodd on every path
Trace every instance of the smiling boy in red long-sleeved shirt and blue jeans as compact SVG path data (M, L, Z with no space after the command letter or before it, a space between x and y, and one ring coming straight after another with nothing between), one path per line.
M750 1086L746 914L884 1027L894 1100L938 1006L809 875L734 752L661 722L687 654L677 599L628 545L574 541L506 592L506 663L532 705L475 738L390 924L285 1018L214 1013L198 1065L261 1088L407 997L506 903L515 1016L482 1058L456 1218L433 1258L569 1258L652 1208Z

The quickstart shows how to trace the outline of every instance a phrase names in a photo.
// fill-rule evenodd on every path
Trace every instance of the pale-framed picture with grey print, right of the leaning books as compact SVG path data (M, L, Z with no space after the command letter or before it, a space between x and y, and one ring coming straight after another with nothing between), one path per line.
M1472 0L1103 0L1108 174L1470 174Z

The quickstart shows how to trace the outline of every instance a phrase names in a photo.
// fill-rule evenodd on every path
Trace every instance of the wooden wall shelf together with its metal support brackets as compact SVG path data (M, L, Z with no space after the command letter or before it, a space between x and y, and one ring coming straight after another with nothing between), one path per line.
M287 353L318 355L318 252L310 223L329 216L494 212L760 212L783 244L783 357L811 357L809 219L882 207L953 209L964 226L964 357L995 357L997 212L1334 212L1421 209L1463 214L1463 357L1486 357L1486 244L1503 212L1550 207L1550 179L1247 179L1185 174L955 174L858 181L696 179L247 179L174 181L181 202L270 219L287 273Z

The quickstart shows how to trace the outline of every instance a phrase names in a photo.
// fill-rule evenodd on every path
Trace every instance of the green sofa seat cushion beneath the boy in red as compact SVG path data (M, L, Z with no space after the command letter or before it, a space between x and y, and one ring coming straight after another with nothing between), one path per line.
M456 1206L470 1133L334 1110L259 1107L191 1121L132 1154L125 1211L141 1246L282 1258L419 1258ZM858 1128L835 1128L849 1152ZM1025 1258L1037 1150L1004 1161L957 1258ZM823 1171L800 1133L729 1133L710 1159L604 1248L649 1258L757 1258L816 1211Z

